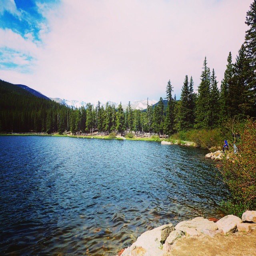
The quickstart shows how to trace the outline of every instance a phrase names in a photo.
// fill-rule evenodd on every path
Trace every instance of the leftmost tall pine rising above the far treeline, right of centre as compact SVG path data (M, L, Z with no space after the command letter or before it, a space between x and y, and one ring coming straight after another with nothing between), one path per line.
M168 103L164 121L164 132L168 136L174 133L174 99L172 98L172 89L173 87L171 85L171 81L169 80L166 86L166 99L168 100Z

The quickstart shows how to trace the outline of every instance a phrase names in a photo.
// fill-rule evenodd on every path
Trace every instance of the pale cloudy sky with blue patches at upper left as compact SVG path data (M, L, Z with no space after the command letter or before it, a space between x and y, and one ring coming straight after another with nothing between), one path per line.
M221 81L252 0L0 0L0 79L49 97L177 98L204 56ZM220 82L219 82L220 85Z

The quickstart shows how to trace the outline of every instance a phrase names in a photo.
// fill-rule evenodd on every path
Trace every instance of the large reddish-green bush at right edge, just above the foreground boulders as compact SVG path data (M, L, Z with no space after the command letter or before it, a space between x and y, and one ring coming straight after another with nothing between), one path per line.
M241 216L245 210L256 210L256 122L248 120L240 134L238 154L229 154L219 168L228 185L231 198L222 202L221 208L227 214Z

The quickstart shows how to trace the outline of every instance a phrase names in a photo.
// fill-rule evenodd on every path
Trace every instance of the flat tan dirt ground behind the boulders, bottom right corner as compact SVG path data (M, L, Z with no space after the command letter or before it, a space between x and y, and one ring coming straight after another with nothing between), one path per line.
M184 237L175 242L169 256L256 256L256 230L213 238Z

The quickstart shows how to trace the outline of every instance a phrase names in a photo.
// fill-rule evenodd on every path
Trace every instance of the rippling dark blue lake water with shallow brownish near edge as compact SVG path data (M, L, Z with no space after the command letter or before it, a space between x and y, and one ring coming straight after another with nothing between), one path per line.
M0 254L116 255L146 230L218 217L205 150L158 142L0 136Z

